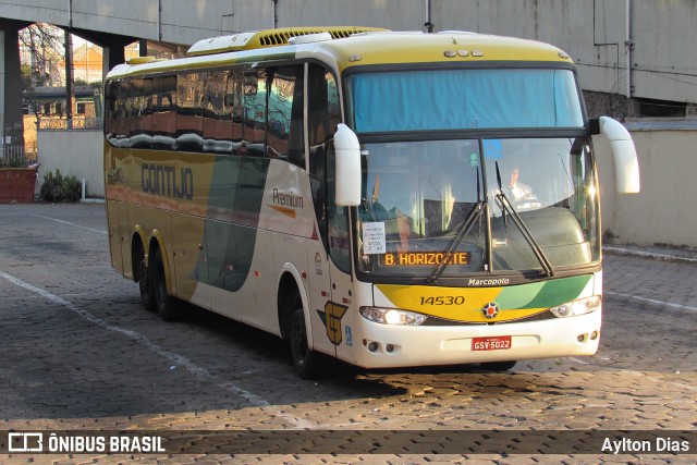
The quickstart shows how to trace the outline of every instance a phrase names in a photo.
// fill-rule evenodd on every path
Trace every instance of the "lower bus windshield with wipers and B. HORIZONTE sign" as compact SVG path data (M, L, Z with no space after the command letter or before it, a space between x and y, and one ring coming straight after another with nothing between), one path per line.
M585 137L365 144L359 271L432 278L440 266L438 277L457 277L598 260L589 150Z

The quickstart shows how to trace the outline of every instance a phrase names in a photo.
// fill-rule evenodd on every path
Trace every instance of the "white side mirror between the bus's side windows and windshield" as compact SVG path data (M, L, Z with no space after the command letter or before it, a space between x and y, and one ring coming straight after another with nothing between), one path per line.
M356 133L339 124L334 134L337 157L337 192L339 207L360 205L360 144Z

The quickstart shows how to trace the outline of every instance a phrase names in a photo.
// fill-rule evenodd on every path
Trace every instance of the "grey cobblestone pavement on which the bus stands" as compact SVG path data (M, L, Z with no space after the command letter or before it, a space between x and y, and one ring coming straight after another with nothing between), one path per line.
M347 430L432 431L435 443L438 430L694 432L696 276L690 262L607 255L603 335L591 357L523 362L505 374L469 366L304 381L271 335L205 311L164 323L144 310L137 285L109 265L103 206L0 206L0 430L308 429L325 445ZM366 452L386 451L379 438L367 439ZM674 455L436 455L428 448L399 454L392 443L390 454L13 454L0 462L687 464L697 461L697 440L689 446Z

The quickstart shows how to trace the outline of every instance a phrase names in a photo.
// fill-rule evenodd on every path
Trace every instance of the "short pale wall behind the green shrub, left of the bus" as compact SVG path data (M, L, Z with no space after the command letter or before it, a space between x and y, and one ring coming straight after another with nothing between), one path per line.
M87 197L105 197L103 133L97 131L39 131L39 186L47 171L87 181Z

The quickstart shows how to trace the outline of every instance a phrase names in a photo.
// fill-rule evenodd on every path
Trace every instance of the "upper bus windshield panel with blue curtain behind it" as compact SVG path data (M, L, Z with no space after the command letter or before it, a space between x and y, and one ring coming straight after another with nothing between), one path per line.
M566 69L390 71L350 82L357 133L584 125Z

